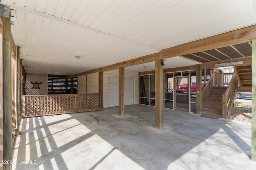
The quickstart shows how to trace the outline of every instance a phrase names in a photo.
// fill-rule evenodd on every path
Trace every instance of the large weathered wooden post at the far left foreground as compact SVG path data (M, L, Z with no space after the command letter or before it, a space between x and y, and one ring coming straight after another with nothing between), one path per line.
M11 94L11 25L10 18L1 17L3 22L3 160L12 160L12 94ZM4 164L3 169L12 169Z

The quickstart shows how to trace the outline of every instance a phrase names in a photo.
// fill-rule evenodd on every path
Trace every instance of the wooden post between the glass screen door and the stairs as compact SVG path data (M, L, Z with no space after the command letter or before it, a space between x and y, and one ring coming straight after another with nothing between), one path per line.
M196 114L202 113L202 64L196 64Z

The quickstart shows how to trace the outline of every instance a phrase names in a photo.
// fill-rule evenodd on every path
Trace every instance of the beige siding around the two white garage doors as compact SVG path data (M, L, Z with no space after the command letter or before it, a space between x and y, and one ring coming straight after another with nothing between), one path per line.
M118 77L118 69L103 72L103 107L108 107L108 77ZM134 104L139 104L139 73L133 71L124 71L125 78L134 78Z

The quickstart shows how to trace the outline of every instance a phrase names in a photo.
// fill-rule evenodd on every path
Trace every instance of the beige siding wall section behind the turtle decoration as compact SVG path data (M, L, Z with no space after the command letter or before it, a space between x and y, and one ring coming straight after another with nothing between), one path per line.
M40 89L33 88L31 82L42 82ZM47 74L26 74L26 95L44 95L47 94Z

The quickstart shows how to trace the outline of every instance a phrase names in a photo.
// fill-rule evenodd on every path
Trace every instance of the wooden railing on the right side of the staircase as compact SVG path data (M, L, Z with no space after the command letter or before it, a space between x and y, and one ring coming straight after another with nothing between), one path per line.
M230 104L233 104L234 102L234 96L236 95L237 86L238 79L236 77L236 74L234 73L225 94L222 94L222 118L224 119L226 119L227 115L230 113L232 109L232 106L228 106Z

